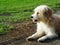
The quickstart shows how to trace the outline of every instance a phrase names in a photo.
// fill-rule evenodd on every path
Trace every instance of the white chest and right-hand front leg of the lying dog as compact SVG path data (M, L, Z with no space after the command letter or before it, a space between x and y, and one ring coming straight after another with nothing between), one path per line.
M38 39L38 41L44 41L47 38L54 38L57 37L58 35L55 33L54 27L50 27L49 25L46 25L44 22L37 23L37 32L45 32L45 36L42 36Z

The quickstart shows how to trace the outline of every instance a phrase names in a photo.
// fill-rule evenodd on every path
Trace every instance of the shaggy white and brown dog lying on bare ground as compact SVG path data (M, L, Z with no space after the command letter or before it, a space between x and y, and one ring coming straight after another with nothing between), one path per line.
M36 7L31 18L33 22L37 23L37 32L29 36L27 40L37 39L37 41L44 41L58 37L60 17L59 15L52 15L50 7L46 5Z

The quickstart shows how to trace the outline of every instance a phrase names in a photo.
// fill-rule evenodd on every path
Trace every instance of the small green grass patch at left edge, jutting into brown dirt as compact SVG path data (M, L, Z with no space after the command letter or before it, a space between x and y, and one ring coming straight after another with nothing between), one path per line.
M14 29L12 25L0 23L0 34L7 34L11 29Z

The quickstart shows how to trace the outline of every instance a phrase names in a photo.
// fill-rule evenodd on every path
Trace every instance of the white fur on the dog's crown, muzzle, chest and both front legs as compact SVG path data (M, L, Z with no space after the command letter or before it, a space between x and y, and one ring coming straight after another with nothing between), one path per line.
M33 17L35 17L33 19L33 21L38 18L36 15L37 12L41 12L41 18L42 18L43 12L48 10L48 8L51 9L50 7L48 7L46 5L40 5L40 6L36 7L34 9L35 13L32 15ZM37 32L35 34L33 34L32 36L29 36L27 38L27 40L30 38L38 38L37 41L44 41L47 38L54 38L54 37L58 37L58 35L55 32L54 26L49 26L48 24L40 21L40 22L37 22Z

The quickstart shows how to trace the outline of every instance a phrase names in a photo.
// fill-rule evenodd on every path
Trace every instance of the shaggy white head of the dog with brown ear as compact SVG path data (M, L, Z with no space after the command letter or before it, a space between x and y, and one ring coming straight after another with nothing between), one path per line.
M31 15L33 22L39 22L43 20L52 19L52 10L46 5L40 5L34 9L34 13Z

